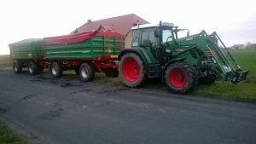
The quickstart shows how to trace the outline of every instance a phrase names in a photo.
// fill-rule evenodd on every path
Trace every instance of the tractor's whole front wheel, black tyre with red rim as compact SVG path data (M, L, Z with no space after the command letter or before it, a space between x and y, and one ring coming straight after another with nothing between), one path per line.
M189 92L198 82L195 68L183 62L171 64L166 69L165 80L169 89L177 94Z

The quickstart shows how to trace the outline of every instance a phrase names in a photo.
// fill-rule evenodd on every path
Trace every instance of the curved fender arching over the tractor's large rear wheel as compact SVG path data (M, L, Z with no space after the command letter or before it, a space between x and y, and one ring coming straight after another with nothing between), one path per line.
M134 54L137 54L137 55L143 60L143 63L144 63L146 66L148 66L148 62L149 62L150 60L148 60L148 59L146 58L146 56L144 55L142 49L137 49L137 48L123 49L123 50L120 52L120 54L119 54L118 60L120 60L121 57L122 57L123 55L125 55L126 53L134 53Z

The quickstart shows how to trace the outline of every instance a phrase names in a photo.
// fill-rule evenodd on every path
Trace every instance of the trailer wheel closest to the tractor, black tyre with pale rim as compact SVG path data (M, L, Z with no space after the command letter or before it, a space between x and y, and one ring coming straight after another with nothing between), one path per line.
M83 63L80 66L79 75L80 75L80 78L82 79L82 81L90 82L91 80L93 80L95 78L94 67L91 66L89 63L86 63L86 62Z

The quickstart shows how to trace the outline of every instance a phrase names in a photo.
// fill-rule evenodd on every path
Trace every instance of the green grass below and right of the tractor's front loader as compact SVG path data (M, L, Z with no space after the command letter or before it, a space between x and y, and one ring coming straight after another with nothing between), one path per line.
M207 95L237 101L256 102L256 49L231 50L242 70L249 70L247 80L240 84L217 81L212 85L198 85L194 95Z

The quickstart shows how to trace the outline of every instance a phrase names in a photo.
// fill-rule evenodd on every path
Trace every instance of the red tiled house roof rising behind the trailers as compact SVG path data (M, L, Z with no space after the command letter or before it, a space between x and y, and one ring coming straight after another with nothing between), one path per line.
M97 30L102 26L105 29L111 29L125 36L131 30L131 27L134 26L134 24L137 24L137 20L139 24L148 24L148 21L143 20L136 14L126 14L113 18L87 22L72 33Z

